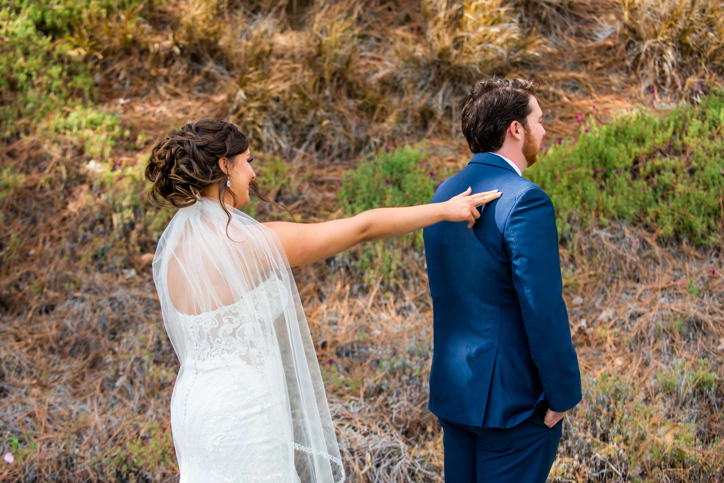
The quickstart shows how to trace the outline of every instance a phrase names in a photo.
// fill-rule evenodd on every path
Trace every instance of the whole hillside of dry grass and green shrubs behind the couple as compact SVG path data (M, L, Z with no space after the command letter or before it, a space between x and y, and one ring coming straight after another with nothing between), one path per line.
M724 481L723 39L714 0L0 1L0 481L177 481L159 135L237 123L301 222L426 203L494 73L541 85L584 377L550 481ZM422 248L295 269L350 481L442 482Z

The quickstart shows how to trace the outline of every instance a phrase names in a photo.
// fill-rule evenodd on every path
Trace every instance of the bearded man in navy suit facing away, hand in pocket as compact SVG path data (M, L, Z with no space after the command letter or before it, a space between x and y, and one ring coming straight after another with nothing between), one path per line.
M528 80L477 83L462 112L470 162L432 203L498 189L472 229L423 232L434 318L429 410L447 483L545 482L581 374L561 295L555 211L521 176L538 159L543 113Z

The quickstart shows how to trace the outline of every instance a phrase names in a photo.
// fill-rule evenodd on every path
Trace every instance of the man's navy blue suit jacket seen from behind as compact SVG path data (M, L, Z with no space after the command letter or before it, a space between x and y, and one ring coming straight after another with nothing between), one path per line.
M425 228L434 319L429 410L448 421L509 428L540 400L581 400L558 259L553 203L497 154L478 153L432 203L498 189L473 228Z

